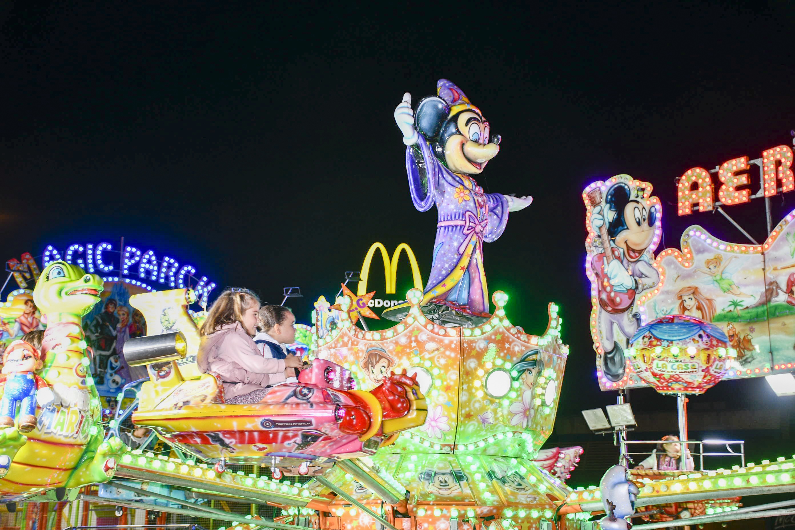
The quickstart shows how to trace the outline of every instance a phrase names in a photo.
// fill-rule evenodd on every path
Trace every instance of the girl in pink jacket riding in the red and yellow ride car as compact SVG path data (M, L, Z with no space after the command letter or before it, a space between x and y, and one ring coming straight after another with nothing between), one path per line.
M257 332L259 297L248 289L228 288L212 304L200 328L197 362L202 372L223 381L230 404L259 403L266 387L285 381L285 368L300 368L300 358L266 359L251 337Z

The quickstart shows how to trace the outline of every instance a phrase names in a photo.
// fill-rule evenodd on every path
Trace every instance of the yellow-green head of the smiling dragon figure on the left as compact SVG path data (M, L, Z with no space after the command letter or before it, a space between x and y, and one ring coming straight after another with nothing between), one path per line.
M77 265L53 261L41 272L33 289L33 301L42 314L85 315L99 302L102 278L87 274Z

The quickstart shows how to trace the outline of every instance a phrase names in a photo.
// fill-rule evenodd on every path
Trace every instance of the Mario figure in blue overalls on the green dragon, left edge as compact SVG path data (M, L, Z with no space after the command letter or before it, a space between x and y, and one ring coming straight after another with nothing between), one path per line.
M29 342L17 340L6 349L2 362L0 382L5 385L0 400L0 427L14 427L17 404L21 403L19 431L33 431L33 427L36 427L37 400L42 407L55 400L55 394L47 382L35 373L43 366L41 354Z

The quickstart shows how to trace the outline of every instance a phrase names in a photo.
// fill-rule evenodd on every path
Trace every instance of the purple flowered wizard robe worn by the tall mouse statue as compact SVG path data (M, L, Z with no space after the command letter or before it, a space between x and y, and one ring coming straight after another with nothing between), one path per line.
M421 157L417 156L416 149ZM440 299L467 305L473 313L489 311L483 271L483 242L496 241L508 222L508 201L499 193L483 193L470 176L444 167L422 135L405 153L409 191L414 207L439 212L433 261L422 304Z

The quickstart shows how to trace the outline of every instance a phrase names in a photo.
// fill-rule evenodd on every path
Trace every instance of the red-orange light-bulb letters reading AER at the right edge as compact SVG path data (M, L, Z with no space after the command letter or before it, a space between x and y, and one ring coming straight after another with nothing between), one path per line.
M750 166L759 167L760 189L755 195L750 189L741 188L750 184ZM725 161L719 167L707 171L704 168L690 168L677 183L679 215L690 215L697 204L698 211L710 211L715 206L731 206L747 203L750 199L772 197L779 191L786 193L795 189L795 175L792 170L793 150L789 145L778 145L762 152L762 157L749 161L748 157L737 157ZM719 203L715 203L715 191L710 173L717 173ZM779 186L781 186L779 188Z

